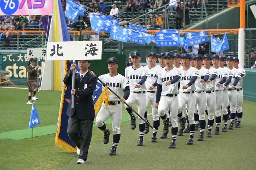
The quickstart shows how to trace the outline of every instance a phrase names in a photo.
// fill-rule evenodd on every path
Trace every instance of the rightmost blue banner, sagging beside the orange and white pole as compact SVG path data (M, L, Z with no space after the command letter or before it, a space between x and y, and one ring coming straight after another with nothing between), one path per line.
M227 41L227 34L223 35L223 38L221 39L221 41L217 41L213 36L211 36L211 51L218 53L224 50L228 50L229 49L229 44Z

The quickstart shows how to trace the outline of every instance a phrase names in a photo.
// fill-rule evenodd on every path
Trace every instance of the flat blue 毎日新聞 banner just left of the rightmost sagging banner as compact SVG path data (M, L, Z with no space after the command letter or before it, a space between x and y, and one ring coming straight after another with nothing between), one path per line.
M189 32L185 33L185 36L188 46L194 46L209 41L206 31Z

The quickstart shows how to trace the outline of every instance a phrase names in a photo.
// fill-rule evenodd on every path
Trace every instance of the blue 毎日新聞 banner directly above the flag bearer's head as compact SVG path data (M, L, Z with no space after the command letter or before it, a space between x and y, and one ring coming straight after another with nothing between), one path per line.
M109 38L127 43L128 30L126 28L111 24L111 32Z

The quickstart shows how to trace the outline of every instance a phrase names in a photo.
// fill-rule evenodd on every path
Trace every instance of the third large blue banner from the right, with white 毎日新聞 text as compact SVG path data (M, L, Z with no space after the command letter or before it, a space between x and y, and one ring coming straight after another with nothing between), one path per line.
M179 46L178 37L173 33L157 32L158 47L174 47Z

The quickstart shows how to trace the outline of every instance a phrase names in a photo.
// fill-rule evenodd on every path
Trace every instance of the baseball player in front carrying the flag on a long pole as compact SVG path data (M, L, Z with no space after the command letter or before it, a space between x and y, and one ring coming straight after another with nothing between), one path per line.
M106 121L108 118L112 118L112 131L113 131L113 143L109 151L109 155L116 155L116 147L120 140L120 124L122 120L122 103L125 102L130 95L130 85L127 79L121 74L117 73L118 61L115 57L110 57L107 60L107 65L109 69L108 74L103 74L99 76L106 85L108 85L111 90L113 90L118 96L124 96L118 99L113 93L108 94L108 103L106 105L105 101L101 106L97 116L96 116L96 126L104 132L103 143L107 144L109 142L110 130L107 129ZM99 82L100 83L100 82Z

